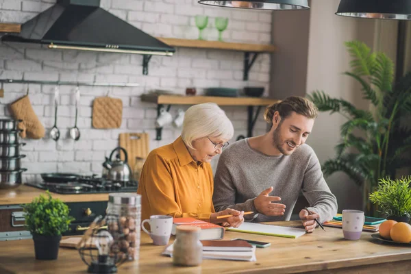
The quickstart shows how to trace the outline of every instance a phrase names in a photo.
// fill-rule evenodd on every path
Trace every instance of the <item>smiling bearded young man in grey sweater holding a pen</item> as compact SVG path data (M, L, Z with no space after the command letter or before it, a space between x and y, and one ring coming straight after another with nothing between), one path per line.
M299 212L306 231L314 231L314 219L331 220L337 212L336 197L314 151L304 144L317 112L302 97L288 97L266 108L264 119L272 123L270 131L240 140L221 154L214 178L216 211L253 211L245 219L256 223L290 220L302 190L312 213Z

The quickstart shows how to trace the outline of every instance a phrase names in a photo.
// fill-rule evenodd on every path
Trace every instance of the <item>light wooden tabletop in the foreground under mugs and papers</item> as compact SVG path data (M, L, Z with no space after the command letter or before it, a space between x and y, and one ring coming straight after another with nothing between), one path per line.
M299 226L299 222L276 225ZM257 249L256 262L203 260L201 266L173 266L161 256L164 247L151 244L142 232L140 260L119 266L119 273L409 273L411 248L381 244L363 232L360 240L345 240L341 229L327 227L297 239L226 232L225 239L247 238L271 242ZM60 249L58 260L34 259L32 240L0 242L0 273L86 273L87 266L74 249Z

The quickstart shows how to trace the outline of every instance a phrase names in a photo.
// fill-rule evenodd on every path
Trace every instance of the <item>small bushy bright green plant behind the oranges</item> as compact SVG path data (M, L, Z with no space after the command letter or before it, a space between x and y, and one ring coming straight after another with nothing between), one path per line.
M387 219L397 222L410 221L411 176L401 179L379 179L379 184L370 195L370 201L378 205L379 212Z

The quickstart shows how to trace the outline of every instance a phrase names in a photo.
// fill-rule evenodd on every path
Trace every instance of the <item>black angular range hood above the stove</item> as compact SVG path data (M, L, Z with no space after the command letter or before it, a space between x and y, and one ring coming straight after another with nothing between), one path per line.
M1 40L77 49L146 55L173 55L175 49L99 7L100 0L58 0L21 25L20 34Z

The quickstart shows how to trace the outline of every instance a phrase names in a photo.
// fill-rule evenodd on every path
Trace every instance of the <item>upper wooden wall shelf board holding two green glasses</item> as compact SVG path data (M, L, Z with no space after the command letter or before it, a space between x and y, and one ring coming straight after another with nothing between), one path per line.
M245 51L245 52L259 52L259 53L272 53L277 51L277 47L274 45L260 45L260 44L242 44L234 42L220 42L220 41L206 41L206 40L189 40L178 38L162 38L156 37L158 40L166 43L171 47L190 47L197 49L225 49L232 51Z

